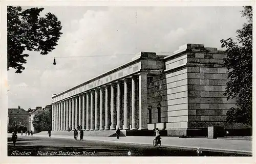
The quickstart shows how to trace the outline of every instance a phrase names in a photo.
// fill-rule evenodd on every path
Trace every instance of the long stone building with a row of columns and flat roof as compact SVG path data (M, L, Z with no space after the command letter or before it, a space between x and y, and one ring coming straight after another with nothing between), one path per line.
M192 135L227 126L236 101L223 95L224 51L186 44L169 56L137 58L52 97L52 130L152 130Z

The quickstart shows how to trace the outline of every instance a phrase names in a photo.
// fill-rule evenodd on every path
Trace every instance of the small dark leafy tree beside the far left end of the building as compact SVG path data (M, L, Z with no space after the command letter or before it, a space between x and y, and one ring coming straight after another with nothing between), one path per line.
M38 132L48 131L52 129L52 110L38 110L32 121L34 129Z

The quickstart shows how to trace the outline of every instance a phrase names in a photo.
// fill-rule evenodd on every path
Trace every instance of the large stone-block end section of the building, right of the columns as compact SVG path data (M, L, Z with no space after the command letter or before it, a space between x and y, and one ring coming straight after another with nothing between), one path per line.
M152 123L158 121L161 104L161 123L166 123L168 135L197 135L208 126L225 126L228 109L236 106L236 100L227 101L223 95L228 81L223 67L226 54L201 44L180 48L164 59L164 73L148 81Z

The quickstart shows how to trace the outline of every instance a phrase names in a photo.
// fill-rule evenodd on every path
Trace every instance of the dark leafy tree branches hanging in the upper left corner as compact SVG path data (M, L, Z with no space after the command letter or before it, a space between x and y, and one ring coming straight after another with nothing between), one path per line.
M27 63L25 58L29 57L23 53L25 50L48 54L55 49L62 26L52 13L40 17L42 10L44 8L7 7L7 70L12 67L15 73L22 73L23 64Z

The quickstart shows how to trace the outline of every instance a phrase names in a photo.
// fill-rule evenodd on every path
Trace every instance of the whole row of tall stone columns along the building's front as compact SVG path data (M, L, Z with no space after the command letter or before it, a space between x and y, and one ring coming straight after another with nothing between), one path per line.
M137 85L139 76L139 85ZM139 99L139 129L146 129L146 73L132 76L132 129L137 129L137 100ZM52 104L52 130L63 131L71 127L77 129L78 125L83 130L114 130L116 125L119 129L130 129L129 107L129 81L124 78L110 85L89 90L79 95L55 102ZM117 92L115 86L117 85ZM137 86L139 88L137 89ZM124 106L122 106L122 91ZM136 92L137 91L137 92ZM105 93L105 94L104 94ZM117 101L116 101L117 99ZM122 113L124 109L124 113ZM123 117L124 115L124 117ZM122 120L124 118L124 121Z

